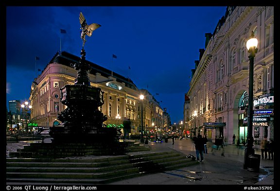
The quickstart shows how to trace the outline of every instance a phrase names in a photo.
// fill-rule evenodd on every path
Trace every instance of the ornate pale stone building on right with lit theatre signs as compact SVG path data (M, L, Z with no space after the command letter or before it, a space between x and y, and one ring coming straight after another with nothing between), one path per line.
M274 7L228 6L213 32L205 34L205 49L192 69L190 98L191 135L209 140L224 137L246 143L249 58L246 42L251 32L258 39L254 60L254 145L274 139ZM185 103L185 109L186 108ZM187 115L187 112L185 112Z

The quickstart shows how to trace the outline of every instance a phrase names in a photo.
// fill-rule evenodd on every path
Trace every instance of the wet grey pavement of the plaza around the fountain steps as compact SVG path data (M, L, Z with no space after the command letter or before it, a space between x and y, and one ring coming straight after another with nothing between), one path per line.
M6 156L9 156L9 151L16 151L28 144L23 141L8 143ZM168 143L149 142L146 146L155 151L176 150L186 156L189 154L195 156L191 139L176 139L175 144L172 144L172 141L168 141ZM204 154L204 162L197 165L141 175L107 185L274 185L274 160L261 159L260 171L252 172L243 168L244 148L227 145L224 147L225 156L222 156L222 149L211 150L211 142L208 142L208 154ZM261 152L255 150L255 154L261 155Z

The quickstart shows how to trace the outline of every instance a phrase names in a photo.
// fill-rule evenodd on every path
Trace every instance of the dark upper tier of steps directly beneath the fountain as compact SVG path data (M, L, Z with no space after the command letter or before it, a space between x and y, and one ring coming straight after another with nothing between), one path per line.
M113 143L42 143L30 142L17 151L9 152L9 157L18 158L61 158L86 155L120 155L127 152L147 151L148 146L135 141Z

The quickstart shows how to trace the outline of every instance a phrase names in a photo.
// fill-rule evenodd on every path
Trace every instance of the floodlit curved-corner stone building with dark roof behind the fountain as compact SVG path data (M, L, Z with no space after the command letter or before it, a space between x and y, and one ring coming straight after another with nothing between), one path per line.
M31 86L29 100L32 104L31 118L38 126L52 126L58 122L58 114L66 109L60 102L60 88L74 85L77 70L73 68L80 58L68 52L57 52ZM107 127L123 127L123 121L129 118L132 122L131 135L139 135L141 129L140 94L145 92L143 100L144 125L151 126L153 116L163 121L162 109L155 98L147 91L136 87L130 78L125 78L111 70L86 60L90 65L88 77L90 86L104 91L104 104L99 110L107 117ZM155 100L152 102L151 100ZM88 108L90 109L90 108ZM159 123L161 124L161 123ZM162 124L161 124L162 125Z

